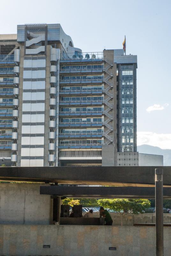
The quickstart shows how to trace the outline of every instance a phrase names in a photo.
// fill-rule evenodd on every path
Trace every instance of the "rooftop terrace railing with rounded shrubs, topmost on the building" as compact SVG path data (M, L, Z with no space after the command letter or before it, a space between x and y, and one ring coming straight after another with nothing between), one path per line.
M103 52L61 53L60 62L93 62L102 61Z

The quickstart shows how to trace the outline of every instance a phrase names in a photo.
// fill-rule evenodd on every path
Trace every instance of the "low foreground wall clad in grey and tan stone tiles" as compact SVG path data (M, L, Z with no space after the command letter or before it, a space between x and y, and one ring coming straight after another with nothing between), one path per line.
M165 256L170 239L171 228L164 227ZM0 225L0 255L155 256L155 227Z

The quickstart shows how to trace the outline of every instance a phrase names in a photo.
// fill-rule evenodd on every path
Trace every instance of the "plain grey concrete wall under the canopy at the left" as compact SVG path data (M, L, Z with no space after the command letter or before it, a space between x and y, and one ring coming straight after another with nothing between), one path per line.
M51 199L39 190L40 184L0 183L0 224L49 224Z

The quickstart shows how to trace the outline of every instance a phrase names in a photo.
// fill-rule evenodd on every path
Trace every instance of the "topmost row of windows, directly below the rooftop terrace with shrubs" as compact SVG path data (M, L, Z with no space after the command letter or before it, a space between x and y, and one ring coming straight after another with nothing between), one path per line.
M61 65L61 71L102 70L103 65Z

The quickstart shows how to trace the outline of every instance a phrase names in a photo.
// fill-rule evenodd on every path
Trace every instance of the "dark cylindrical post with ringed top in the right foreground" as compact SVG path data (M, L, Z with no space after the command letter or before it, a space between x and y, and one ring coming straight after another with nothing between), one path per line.
M163 256L163 169L155 169L156 256Z

